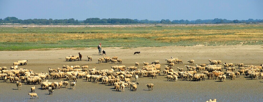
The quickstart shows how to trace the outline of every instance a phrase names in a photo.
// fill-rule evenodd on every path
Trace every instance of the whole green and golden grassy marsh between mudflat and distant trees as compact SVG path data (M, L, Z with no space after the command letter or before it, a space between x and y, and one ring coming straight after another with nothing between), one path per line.
M263 25L163 27L0 27L0 50L41 48L261 45ZM255 42L256 41L256 42Z

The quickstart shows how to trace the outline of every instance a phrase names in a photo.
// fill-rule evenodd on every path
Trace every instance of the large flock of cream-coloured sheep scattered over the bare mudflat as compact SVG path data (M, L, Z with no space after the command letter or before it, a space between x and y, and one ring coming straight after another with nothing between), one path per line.
M80 54L80 53L79 53ZM75 58L72 58L75 57ZM88 61L92 61L91 56L87 56ZM79 56L70 56L68 57L70 61L74 61L74 59L79 59ZM66 57L67 61L67 57ZM246 75L251 79L263 79L262 64L260 66L254 65L244 65L243 63L235 64L238 66L238 71L234 68L233 63L223 63L221 65L221 61L217 60L208 60L209 64L195 64L194 60L188 60L189 65L185 65L186 70L184 68L175 68L175 64L183 64L183 61L178 58L165 59L168 65L164 66L163 75L166 76L167 81L178 81L179 78L189 81L204 81L207 76L207 79L218 79L220 82L225 82L226 78L231 80L235 80L235 77L239 77L240 74ZM118 59L117 56L112 58L103 57L98 59L99 63L115 63L118 62L122 64L122 60ZM114 86L116 91L124 91L125 87L132 88L133 91L137 90L137 82L139 78L151 77L156 79L157 75L161 76L161 65L160 61L153 61L151 64L147 62L143 62L144 66L139 67L139 63L135 62L135 66L126 67L125 65L114 65L110 66L110 70L103 69L97 70L96 67L89 69L88 65L84 66L68 66L63 65L62 68L48 68L49 73L34 73L33 70L30 69L18 69L18 65L26 65L27 60L17 61L13 63L13 66L10 67L10 70L7 70L6 67L0 67L0 79L3 82L7 82L9 79L10 83L16 83L17 89L21 89L22 83L27 85L40 85L40 87L44 90L48 89L49 94L52 94L55 89L68 88L70 85L70 89L75 89L77 79L86 79L86 81L108 84L109 86ZM195 65L194 65L195 64ZM225 73L222 72L222 68L225 68ZM128 70L129 69L129 70ZM116 70L116 71L115 71ZM178 71L174 71L178 70ZM198 74L199 73L199 74ZM135 81L133 81L133 77ZM55 81L48 82L47 79L61 80L66 79L66 81ZM72 80L72 82L68 82ZM146 84L148 90L153 90L154 84L149 83ZM31 87L31 92L35 91L36 86ZM28 95L33 97L37 97L36 93L28 93ZM209 100L212 101L212 100ZM216 101L213 100L213 102Z

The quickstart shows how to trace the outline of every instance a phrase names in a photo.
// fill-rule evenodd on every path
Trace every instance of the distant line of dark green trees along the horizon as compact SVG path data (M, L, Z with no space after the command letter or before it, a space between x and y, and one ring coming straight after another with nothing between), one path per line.
M62 23L62 24L68 24L68 23L112 23L112 24L134 24L134 23L146 23L146 24L154 24L154 23L162 23L162 24L216 24L216 23L259 23L263 22L263 20L260 19L248 19L248 20L226 20L226 19L213 19L213 20L173 20L170 21L169 19L161 21L153 21L153 20L137 20L137 19L99 19L99 18L88 18L86 20L80 21L75 19L27 19L27 20L21 20L17 17L6 17L4 19L0 19L0 23L21 23L21 24L56 24L56 23Z

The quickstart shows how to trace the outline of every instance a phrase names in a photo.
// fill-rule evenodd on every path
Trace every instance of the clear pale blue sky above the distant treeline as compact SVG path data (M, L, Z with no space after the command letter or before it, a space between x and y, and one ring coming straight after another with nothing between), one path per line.
M0 0L0 18L263 19L263 0Z

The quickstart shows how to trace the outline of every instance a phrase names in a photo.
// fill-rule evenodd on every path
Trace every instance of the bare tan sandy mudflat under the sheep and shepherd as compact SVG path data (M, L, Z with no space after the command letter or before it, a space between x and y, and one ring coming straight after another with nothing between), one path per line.
M73 48L75 49L75 48ZM183 60L183 64L176 64L176 67L184 68L187 60L194 59L195 64L208 63L208 59L221 60L222 63L244 63L245 65L262 64L263 49L261 45L234 45L234 46L186 46L186 47L143 47L133 49L103 48L107 56L118 56L123 60L123 65L134 66L134 62L152 62L159 60L161 72L164 69L166 58L178 57ZM141 55L133 55L135 51L141 51ZM87 55L93 57L93 61L65 62L68 55L77 55L81 52L84 60ZM18 60L28 60L28 65L19 66L34 70L35 73L48 72L48 67L62 68L62 65L89 65L90 68L96 66L97 69L110 69L110 63L97 64L97 59L103 56L97 55L97 48L85 48L84 50L48 50L48 51L1 51L0 66L8 69L13 62ZM174 69L178 71L177 69ZM225 72L225 69L223 69ZM238 69L236 69L238 70ZM163 75L163 73L161 73ZM64 80L64 79L63 79ZM49 82L63 81L49 80ZM48 94L48 90L41 90L40 85L24 85L22 90L16 90L16 84L0 82L1 101L206 101L217 99L218 101L262 101L261 86L263 79L250 80L245 75L241 75L236 80L227 79L226 82L216 82L218 80L205 80L200 82L166 81L165 76L157 76L157 79L149 77L139 78L136 92L125 88L125 92L114 91L114 86L108 86L93 82L86 82L78 79L76 89L56 89L53 95ZM71 82L71 81L70 81ZM153 83L153 91L147 91L147 83ZM36 93L39 99L30 98L27 93L30 87L36 86ZM10 97L10 94L11 95Z

